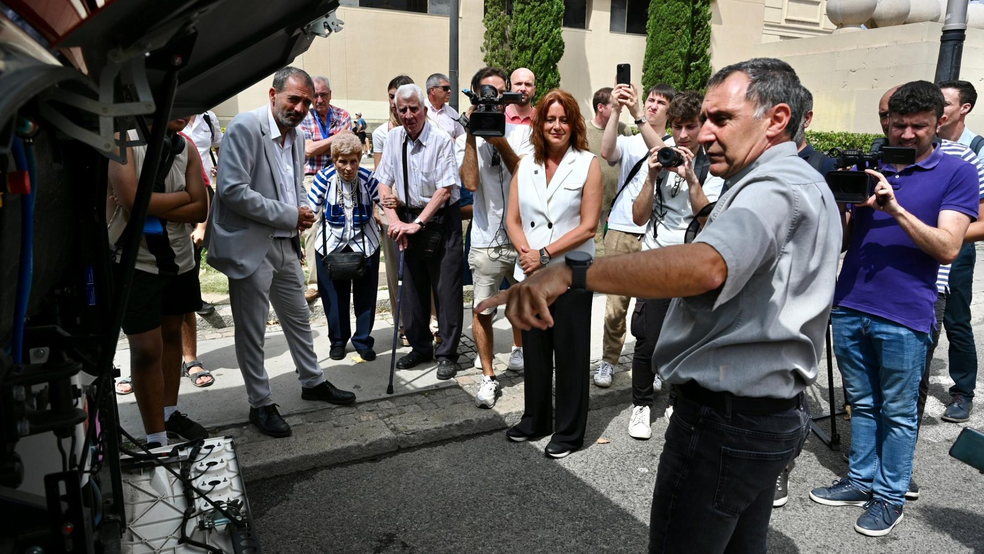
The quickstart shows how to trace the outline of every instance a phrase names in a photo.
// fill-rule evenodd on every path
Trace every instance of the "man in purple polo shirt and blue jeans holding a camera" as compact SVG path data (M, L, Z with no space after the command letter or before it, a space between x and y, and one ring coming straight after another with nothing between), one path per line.
M977 219L976 168L934 141L945 100L927 81L889 101L889 144L915 148L911 166L882 165L867 201L842 206L848 245L833 294L833 350L853 407L850 468L810 498L863 506L854 529L892 531L912 474L916 400L936 323L936 275Z

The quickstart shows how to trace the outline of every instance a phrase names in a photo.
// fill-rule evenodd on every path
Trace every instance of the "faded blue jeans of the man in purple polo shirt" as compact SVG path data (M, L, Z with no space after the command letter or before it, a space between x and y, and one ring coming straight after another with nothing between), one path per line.
M912 477L919 381L929 333L877 315L835 307L833 352L851 405L847 478L875 498L905 504Z

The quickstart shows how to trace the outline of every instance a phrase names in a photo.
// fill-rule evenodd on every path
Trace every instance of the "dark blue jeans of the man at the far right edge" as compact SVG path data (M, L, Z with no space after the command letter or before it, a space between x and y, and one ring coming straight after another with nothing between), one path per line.
M963 394L973 399L977 384L977 348L974 330L970 327L970 300L974 288L974 243L963 244L950 268L950 298L944 314L944 327L950 339L951 394Z

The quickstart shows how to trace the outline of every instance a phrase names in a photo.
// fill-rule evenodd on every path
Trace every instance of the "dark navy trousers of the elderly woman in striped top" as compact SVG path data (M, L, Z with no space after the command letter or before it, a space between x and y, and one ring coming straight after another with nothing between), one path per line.
M372 348L372 326L376 320L376 292L379 289L379 248L366 259L366 274L355 280L331 280L324 256L315 254L318 292L328 318L328 338L332 346L344 346L352 339L356 350ZM355 334L348 318L349 294L355 308Z

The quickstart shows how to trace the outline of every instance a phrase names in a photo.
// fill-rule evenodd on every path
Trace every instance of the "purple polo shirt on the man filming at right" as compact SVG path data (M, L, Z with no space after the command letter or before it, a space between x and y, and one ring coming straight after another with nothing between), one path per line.
M922 162L895 172L879 168L898 204L931 227L942 210L977 219L977 169L944 154L939 144ZM833 305L879 315L928 333L936 323L936 273L940 262L922 251L891 215L853 206L851 243L833 291Z

